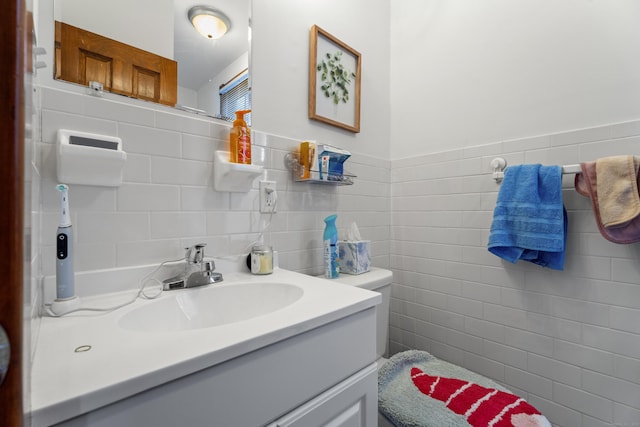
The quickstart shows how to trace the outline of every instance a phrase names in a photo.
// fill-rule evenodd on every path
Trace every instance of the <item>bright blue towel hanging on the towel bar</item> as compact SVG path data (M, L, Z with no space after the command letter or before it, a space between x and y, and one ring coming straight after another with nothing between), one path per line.
M562 168L509 166L493 211L489 251L512 263L521 259L563 270L566 241Z

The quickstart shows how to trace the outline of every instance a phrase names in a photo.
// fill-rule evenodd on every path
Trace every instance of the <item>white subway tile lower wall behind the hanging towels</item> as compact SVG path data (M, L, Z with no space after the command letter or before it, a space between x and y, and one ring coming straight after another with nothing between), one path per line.
M605 240L565 176L564 271L486 249L494 157L621 154L640 155L640 121L392 161L392 353L423 349L487 375L556 426L640 426L640 243Z

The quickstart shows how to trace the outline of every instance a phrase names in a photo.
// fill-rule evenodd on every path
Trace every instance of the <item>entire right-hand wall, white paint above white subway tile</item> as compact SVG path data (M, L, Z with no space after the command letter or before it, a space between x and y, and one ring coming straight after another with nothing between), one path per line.
M570 176L564 271L503 262L487 240L494 157L640 154L640 3L393 5L392 352L498 380L556 426L637 424L640 244L600 236Z

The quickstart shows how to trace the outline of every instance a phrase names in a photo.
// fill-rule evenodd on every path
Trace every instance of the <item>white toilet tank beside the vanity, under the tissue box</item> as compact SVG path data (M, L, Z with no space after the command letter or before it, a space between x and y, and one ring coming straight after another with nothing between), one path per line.
M371 267L371 270L366 273L358 275L341 273L338 278L331 280L382 294L382 302L376 306L376 352L379 358L386 357L389 343L389 303L391 301L393 272L383 268Z

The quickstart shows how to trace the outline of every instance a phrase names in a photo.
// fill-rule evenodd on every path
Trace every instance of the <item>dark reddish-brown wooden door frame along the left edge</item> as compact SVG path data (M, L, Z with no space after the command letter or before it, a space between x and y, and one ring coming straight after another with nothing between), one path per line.
M24 259L25 0L2 0L0 13L0 324L11 342L10 365L0 385L2 425L23 425L22 335ZM29 47L30 48L30 47Z

